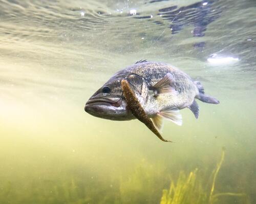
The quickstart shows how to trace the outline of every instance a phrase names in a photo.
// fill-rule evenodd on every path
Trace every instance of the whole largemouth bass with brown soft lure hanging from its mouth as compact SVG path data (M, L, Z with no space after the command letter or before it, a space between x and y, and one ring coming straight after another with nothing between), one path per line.
M130 93L130 100L127 93ZM160 131L162 119L182 125L180 109L187 107L198 118L199 106L195 99L206 103L219 103L217 99L204 94L204 88L199 81L194 81L176 67L163 62L140 60L111 77L87 101L84 109L99 118L118 121L137 118L142 121L135 112L136 108L131 107L139 107L139 104L145 116ZM141 109L137 108L137 111ZM148 127L153 131L151 125Z

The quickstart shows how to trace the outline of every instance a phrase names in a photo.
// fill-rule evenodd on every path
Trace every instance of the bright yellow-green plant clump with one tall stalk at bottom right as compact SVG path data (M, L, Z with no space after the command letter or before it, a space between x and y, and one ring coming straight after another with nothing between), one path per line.
M198 174L198 169L190 172L187 176L184 171L181 171L177 183L172 180L170 188L164 189L161 197L160 204L199 204L209 203L214 204L222 196L237 196L243 197L246 203L249 203L247 196L244 193L215 193L215 184L218 173L222 166L225 157L225 148L222 149L220 162L217 164L216 169L212 172L211 186L203 183L202 177Z

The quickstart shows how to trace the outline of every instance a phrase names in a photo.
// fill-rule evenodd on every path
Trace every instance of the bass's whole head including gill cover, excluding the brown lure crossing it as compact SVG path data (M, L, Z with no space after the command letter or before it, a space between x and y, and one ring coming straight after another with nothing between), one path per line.
M90 115L109 120L135 119L127 104L121 87L121 80L126 78L133 89L134 94L143 106L146 100L147 86L141 77L135 74L127 74L120 71L110 78L87 101L84 110Z

